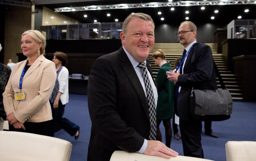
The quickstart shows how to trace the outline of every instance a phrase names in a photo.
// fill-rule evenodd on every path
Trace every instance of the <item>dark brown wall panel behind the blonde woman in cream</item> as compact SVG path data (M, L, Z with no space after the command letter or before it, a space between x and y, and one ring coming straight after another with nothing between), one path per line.
M13 63L18 62L16 53L22 53L20 49L21 34L31 27L31 8L8 6L5 11L4 32L4 64L8 59Z

